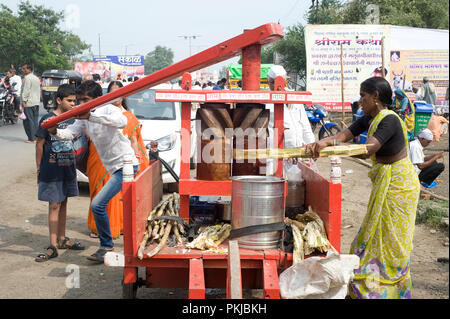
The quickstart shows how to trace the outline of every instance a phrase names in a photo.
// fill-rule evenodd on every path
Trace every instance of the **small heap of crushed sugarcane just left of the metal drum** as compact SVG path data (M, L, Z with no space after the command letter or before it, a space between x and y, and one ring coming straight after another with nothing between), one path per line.
M190 243L186 244L187 248L193 249L216 249L228 238L231 231L230 224L217 224L208 226Z

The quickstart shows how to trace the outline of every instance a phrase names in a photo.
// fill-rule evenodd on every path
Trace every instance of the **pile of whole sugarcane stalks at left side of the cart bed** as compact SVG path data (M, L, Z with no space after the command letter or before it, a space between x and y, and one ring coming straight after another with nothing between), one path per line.
M163 199L150 213L148 217L148 224L138 249L138 258L144 258L144 250L147 243L158 245L146 255L153 257L167 244L169 236L173 234L178 245L183 244L184 226L181 222L176 220L160 219L162 216L178 216L180 210L180 195L177 193L170 194L166 199Z

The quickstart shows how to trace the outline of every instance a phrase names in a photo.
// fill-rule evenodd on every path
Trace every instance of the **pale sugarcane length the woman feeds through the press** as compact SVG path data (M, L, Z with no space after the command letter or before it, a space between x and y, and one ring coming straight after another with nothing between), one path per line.
M356 156L367 154L367 144L358 145L337 145L328 146L320 151L320 157L328 156ZM286 148L286 149L251 149L234 150L234 159L236 160L264 160L264 159L283 159L283 158L311 158L312 153L307 152L305 147Z

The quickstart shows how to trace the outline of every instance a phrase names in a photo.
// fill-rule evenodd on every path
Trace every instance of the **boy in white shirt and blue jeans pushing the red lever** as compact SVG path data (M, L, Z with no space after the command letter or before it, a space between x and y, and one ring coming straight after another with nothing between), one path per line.
M77 98L80 103L87 103L101 95L102 88L94 81L83 82L77 88ZM139 165L130 140L122 133L126 125L127 118L122 111L112 104L107 104L95 111L78 116L75 123L66 129L61 130L56 127L48 129L50 134L58 140L73 140L81 132L87 132L97 149L103 166L111 175L108 182L91 201L100 248L88 259L97 263L103 263L106 252L112 251L114 247L106 206L122 190L124 156L131 156L135 174Z

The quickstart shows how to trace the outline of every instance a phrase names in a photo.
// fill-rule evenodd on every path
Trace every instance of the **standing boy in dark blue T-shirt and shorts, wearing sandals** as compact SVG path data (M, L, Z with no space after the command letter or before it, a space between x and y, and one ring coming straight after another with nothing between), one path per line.
M56 93L58 105L56 110L44 115L40 123L69 111L75 106L75 101L76 95L73 88L68 84L61 85ZM63 129L74 121L72 119L62 122L58 128ZM50 245L35 260L44 262L58 257L58 249L83 250L84 246L65 235L67 199L78 196L73 142L56 140L40 125L36 137L38 199L48 202Z

